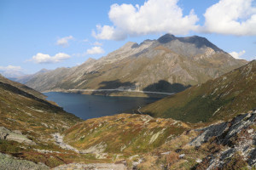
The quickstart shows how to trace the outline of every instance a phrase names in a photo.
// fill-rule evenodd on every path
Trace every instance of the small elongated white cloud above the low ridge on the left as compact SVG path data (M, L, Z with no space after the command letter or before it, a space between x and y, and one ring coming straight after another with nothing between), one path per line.
M38 53L32 56L32 59L29 59L28 61L33 61L38 64L45 64L45 63L57 63L69 58L70 58L70 55L64 54L64 53L58 53L58 54L55 54L54 56L50 56L49 54Z

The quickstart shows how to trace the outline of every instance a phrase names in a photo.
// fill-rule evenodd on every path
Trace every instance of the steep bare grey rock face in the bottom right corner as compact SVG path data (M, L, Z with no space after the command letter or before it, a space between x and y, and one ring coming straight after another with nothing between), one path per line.
M200 147L201 144L209 142L224 146L224 150L219 150L212 155L207 156L202 164L207 169L214 169L215 167L225 167L232 159L247 161L250 167L256 166L256 149L253 145L256 144L256 111L236 116L231 122L223 122L198 129L201 134L193 139L189 144ZM201 167L199 164L199 168Z

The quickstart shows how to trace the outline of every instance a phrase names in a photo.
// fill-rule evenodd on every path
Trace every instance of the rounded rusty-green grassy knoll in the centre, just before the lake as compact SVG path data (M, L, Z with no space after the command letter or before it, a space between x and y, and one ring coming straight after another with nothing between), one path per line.
M65 140L80 150L101 145L103 152L131 154L153 150L185 130L187 124L172 119L119 114L76 124L65 132Z

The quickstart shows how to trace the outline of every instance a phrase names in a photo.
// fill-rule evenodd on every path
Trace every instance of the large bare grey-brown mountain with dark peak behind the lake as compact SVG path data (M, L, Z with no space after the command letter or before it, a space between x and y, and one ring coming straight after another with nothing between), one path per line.
M234 59L204 37L166 34L141 44L127 42L101 59L58 68L25 83L38 91L119 88L177 93L246 63Z

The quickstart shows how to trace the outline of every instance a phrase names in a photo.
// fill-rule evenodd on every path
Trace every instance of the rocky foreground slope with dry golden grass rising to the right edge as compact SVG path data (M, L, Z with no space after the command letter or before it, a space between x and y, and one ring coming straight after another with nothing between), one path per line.
M203 125L204 126L204 125ZM143 156L138 169L254 169L256 110L184 132Z

